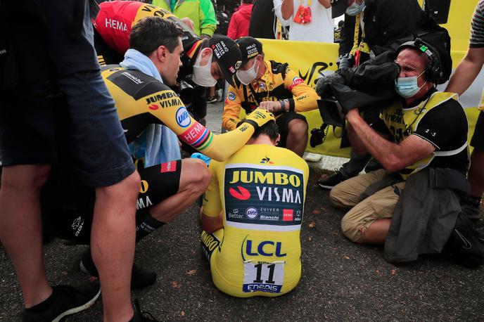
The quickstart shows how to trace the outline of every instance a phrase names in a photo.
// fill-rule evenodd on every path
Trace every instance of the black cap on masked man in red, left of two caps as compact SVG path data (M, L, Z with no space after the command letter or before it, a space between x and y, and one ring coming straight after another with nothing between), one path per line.
M234 80L232 78L242 64L241 51L237 44L227 36L216 34L208 39L208 47L212 49L212 60L219 65L225 80L233 85Z

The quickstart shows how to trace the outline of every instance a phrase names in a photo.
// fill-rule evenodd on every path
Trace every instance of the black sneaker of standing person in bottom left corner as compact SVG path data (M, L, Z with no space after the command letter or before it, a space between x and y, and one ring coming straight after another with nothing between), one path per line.
M23 309L23 322L60 321L64 316L84 311L96 302L101 294L98 283L89 283L77 288L58 285L52 288L52 295L44 302Z

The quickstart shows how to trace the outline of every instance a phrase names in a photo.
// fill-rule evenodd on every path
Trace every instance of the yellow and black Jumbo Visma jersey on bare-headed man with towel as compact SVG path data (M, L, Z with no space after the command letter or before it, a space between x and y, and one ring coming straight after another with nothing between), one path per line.
M182 141L215 160L226 160L254 133L255 122L246 122L234 133L213 135L193 120L177 94L158 79L119 65L107 65L101 76L113 96L128 143L148 124L165 124ZM261 119L265 114L258 113Z

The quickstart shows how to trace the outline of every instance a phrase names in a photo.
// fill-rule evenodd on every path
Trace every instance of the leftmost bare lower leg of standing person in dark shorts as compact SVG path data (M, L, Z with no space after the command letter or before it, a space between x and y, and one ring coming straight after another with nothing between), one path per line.
M15 165L4 167L1 176L0 240L12 260L27 308L52 293L44 267L39 201L50 169L50 165Z

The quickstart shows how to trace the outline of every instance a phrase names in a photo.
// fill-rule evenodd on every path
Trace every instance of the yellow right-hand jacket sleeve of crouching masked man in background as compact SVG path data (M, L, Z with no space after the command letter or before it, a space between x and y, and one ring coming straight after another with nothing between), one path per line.
M316 91L312 87L307 86L303 79L289 68L286 70L284 87L293 94L293 98L288 100L289 110L305 112L317 108L319 96L316 94Z

